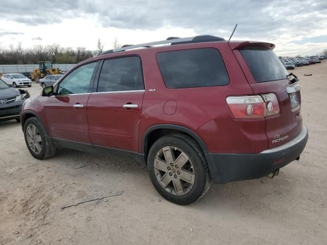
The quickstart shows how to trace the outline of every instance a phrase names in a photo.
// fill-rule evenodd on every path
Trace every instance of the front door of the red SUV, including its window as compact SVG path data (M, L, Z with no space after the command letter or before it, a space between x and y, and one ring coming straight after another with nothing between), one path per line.
M56 94L44 105L51 137L90 144L86 105L96 65L79 66L56 85Z

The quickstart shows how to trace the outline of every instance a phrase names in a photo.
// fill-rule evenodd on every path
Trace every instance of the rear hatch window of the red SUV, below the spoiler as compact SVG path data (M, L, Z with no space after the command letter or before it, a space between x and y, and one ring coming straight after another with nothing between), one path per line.
M286 68L270 48L248 47L240 52L256 82L286 79Z

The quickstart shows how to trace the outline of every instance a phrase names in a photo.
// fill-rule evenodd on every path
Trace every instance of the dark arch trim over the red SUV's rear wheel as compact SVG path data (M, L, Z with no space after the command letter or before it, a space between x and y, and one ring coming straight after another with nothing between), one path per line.
M172 133L183 133L191 136L200 146L203 153L207 153L207 147L204 141L193 130L180 125L174 124L159 124L148 128L143 134L142 138L142 155L144 155L145 162L152 144L159 138Z

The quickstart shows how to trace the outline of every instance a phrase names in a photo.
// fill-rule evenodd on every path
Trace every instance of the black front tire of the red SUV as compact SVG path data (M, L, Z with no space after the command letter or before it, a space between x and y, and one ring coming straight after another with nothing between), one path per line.
M30 133L28 133L28 130L29 132L31 132L31 129L34 129L33 127L35 127L37 130L37 132L35 132L35 140L41 140L41 143L39 145L39 151L36 151L36 147L34 147L35 150L33 150L33 147L30 146L30 143L28 142L28 140L31 140ZM42 125L40 120L37 119L37 117L30 117L26 120L24 124L24 137L27 148L29 149L32 156L36 159L43 160L52 157L56 154L56 148L52 139L48 136L44 126Z

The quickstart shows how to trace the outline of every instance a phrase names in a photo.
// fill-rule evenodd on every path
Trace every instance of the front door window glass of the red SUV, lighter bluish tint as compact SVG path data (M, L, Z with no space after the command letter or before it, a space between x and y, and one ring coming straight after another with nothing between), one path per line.
M57 94L77 94L89 92L92 75L97 62L82 65L65 77L58 86Z

